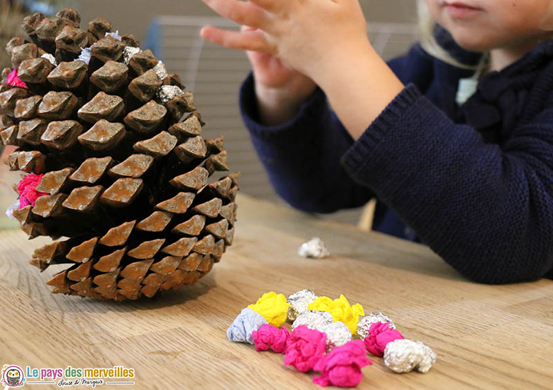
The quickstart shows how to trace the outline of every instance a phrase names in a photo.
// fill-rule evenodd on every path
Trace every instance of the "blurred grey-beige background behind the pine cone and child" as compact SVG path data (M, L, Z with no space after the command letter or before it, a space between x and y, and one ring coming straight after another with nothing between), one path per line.
M371 42L385 59L401 55L417 38L415 1L360 3L369 21ZM245 54L219 48L198 35L206 23L233 26L232 23L216 17L200 0L0 0L1 47L15 35L25 37L19 26L26 14L39 11L51 15L64 7L79 11L82 26L95 17L108 19L113 30L122 35L133 34L142 49L151 49L164 61L169 72L179 73L187 90L194 92L195 104L207 122L205 137L225 136L229 165L242 172L241 192L282 202L268 182L238 111L238 88L250 70ZM9 67L6 52L0 52L0 69ZM0 228L17 227L3 211L17 199L12 184L20 177L20 173L10 172L5 164L0 164ZM362 211L358 208L321 217L359 224Z

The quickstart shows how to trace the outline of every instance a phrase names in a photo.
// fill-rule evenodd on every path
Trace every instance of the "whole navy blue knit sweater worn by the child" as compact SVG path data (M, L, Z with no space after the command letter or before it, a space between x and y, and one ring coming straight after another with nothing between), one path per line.
M553 40L482 77L462 106L469 71L420 46L388 64L406 88L357 142L320 89L287 123L262 126L247 77L243 119L277 193L319 213L375 196L375 230L416 236L476 282L553 278Z

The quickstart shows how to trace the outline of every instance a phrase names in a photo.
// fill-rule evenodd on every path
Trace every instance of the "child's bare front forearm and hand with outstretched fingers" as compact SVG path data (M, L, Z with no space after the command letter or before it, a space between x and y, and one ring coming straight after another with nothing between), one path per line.
M357 0L203 0L216 12L263 31L205 27L205 39L227 48L269 52L310 77L353 139L402 89L373 50Z

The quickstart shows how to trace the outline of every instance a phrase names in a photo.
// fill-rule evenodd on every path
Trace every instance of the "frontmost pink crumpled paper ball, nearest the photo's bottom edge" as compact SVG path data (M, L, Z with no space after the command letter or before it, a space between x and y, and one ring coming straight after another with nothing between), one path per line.
M320 371L321 376L313 378L313 383L321 386L329 384L339 387L357 386L363 378L361 369L368 364L373 364L373 361L367 358L363 342L348 341L319 359L313 369Z

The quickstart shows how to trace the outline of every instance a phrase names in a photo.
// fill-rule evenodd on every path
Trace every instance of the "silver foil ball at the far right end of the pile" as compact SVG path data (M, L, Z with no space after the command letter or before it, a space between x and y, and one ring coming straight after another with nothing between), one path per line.
M436 354L421 341L407 339L388 342L384 349L384 364L397 373L416 369L427 373L436 361Z

